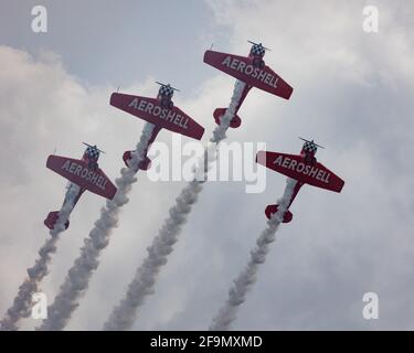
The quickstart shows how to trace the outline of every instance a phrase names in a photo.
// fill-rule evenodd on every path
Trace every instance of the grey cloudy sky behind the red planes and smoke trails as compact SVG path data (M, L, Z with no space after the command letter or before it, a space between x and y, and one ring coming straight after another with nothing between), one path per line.
M0 1L0 315L63 200L66 182L45 168L47 156L76 158L82 141L97 143L107 152L100 167L118 176L144 122L110 107L109 95L119 86L152 96L155 79L181 89L174 101L205 127L205 142L234 79L205 65L203 52L214 43L247 54L253 40L272 49L266 63L295 90L288 101L252 90L229 141L294 153L298 136L314 138L346 185L341 194L302 188L233 328L414 329L412 1L41 2L47 33L31 30L40 1ZM378 33L362 29L367 4L379 10ZM159 139L171 143L171 133ZM265 227L265 206L283 192L285 178L266 175L257 194L245 182L205 185L136 330L209 327ZM138 178L68 330L102 329L185 184ZM103 204L85 194L72 214L42 284L50 301ZM362 317L365 292L379 296L378 320Z

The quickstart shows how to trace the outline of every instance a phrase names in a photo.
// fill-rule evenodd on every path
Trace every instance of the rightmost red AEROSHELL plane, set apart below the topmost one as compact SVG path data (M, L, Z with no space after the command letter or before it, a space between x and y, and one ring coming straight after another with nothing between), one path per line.
M314 185L333 192L341 192L344 181L316 160L316 151L321 147L314 140L305 141L300 154L286 154L279 152L258 151L256 162L265 165L278 173L297 181L287 211L284 214L283 223L288 223L293 218L291 212L288 210L294 202L297 193L304 184ZM323 148L323 147L321 147ZM265 214L270 218L278 210L278 205L268 205Z

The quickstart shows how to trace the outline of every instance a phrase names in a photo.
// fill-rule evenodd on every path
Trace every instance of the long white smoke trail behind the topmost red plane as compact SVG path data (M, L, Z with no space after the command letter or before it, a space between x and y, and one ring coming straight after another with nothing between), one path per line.
M213 131L213 136L210 139L211 143L204 150L204 158L195 171L194 180L176 199L176 204L169 210L169 217L163 222L151 246L147 248L147 258L137 269L132 281L128 286L125 298L113 309L113 312L104 324L104 330L131 329L138 308L142 306L148 295L155 292L153 287L157 276L161 267L167 264L167 257L178 240L181 227L187 222L188 215L203 189L202 183L206 180L211 163L216 159L217 145L226 137L225 132L235 115L235 109L244 87L245 84L243 82L236 81L229 108L221 118L221 124Z

